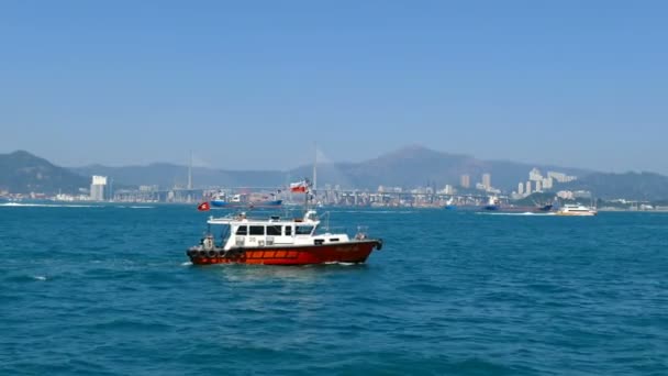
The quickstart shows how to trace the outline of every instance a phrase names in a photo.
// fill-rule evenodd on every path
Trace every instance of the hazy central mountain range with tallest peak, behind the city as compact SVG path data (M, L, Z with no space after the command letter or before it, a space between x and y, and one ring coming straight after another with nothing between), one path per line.
M589 172L577 168L541 166L506 161L481 161L469 155L449 154L422 146L404 147L377 158L359 163L327 163L318 165L318 183L341 185L346 188L377 189L378 186L400 186L411 188L427 184L438 188L446 184L458 185L464 174L470 175L471 185L481 180L485 173L492 175L492 185L504 190L516 189L519 181L525 181L533 167L542 170L558 170L581 176ZM100 165L74 168L79 175L104 175L114 184L158 185L167 188L186 186L188 167L172 164L148 166L105 167ZM312 165L290 170L227 170L196 167L192 169L196 187L279 187L289 180L311 177Z

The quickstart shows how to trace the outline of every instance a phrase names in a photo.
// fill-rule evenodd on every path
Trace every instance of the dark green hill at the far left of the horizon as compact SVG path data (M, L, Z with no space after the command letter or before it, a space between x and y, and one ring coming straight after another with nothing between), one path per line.
M90 185L89 178L24 151L0 154L0 189L12 193L74 193Z

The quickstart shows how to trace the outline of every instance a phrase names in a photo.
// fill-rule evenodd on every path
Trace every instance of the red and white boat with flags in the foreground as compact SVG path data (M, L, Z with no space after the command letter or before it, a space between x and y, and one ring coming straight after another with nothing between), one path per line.
M329 226L321 228L321 217L309 208L310 190L304 189L304 185L296 187L299 188L293 191L304 192L307 197L303 217L248 218L245 212L210 217L209 229L200 244L187 251L192 264L364 263L374 250L382 248L382 240L369 237L366 231L358 230L354 236L348 236L331 233ZM325 215L329 219L329 213ZM211 225L223 226L220 243L216 243Z

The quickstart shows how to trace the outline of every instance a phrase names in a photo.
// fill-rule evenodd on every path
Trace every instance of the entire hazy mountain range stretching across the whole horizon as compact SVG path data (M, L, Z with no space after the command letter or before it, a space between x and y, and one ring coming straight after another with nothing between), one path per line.
M652 173L602 174L577 168L542 166L506 161L481 161L461 154L448 154L421 146L410 146L359 163L319 164L318 184L341 185L344 188L376 190L378 186L412 188L432 185L442 188L446 184L457 186L463 174L470 175L471 185L490 173L492 185L505 191L516 188L527 179L528 172L537 167L542 172L558 170L580 178L557 189L590 190L598 198L661 200L668 199L668 177ZM193 168L194 187L267 187L278 188L302 177L311 177L313 166L305 165L290 170L226 170ZM148 166L107 167L92 165L65 169L27 152L0 155L0 189L12 192L75 192L88 187L91 175L104 175L113 179L114 187L158 185L162 188L186 186L188 168L174 164Z

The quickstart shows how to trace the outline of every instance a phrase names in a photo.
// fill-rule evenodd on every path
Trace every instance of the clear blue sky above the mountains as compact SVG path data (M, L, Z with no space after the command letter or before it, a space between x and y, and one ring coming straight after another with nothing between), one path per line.
M668 174L665 1L2 1L0 152Z

